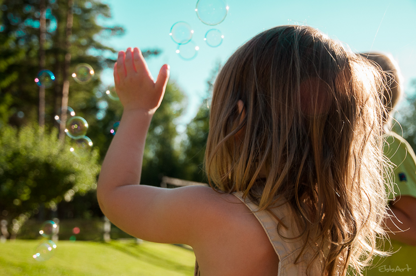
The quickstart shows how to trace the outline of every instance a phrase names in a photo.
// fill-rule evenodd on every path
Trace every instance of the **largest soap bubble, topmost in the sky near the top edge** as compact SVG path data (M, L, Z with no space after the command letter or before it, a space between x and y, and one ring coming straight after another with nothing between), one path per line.
M214 26L224 21L228 9L223 0L198 0L195 12L202 23Z

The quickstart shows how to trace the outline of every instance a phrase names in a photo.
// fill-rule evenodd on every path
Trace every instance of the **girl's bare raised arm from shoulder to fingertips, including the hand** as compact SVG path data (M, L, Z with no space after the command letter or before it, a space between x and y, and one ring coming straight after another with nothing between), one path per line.
M218 224L218 196L202 186L162 189L140 184L150 121L169 76L163 65L156 83L139 49L119 53L116 91L124 106L117 134L102 164L97 198L102 212L119 228L144 240L192 246L198 235ZM218 205L218 204L217 204ZM203 226L203 227L202 227Z

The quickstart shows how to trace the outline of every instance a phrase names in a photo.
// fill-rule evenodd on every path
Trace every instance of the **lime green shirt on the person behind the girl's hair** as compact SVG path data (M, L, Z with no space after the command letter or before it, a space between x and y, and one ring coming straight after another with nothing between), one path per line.
M384 136L384 155L390 160L393 166L393 173L390 176L394 183L393 193L389 194L389 199L398 198L400 195L416 197L416 156L410 145L398 134L391 132ZM386 188L388 192L388 189ZM407 245L392 239L390 235L391 251L389 257L376 257L370 268L367 268L367 276L390 276L402 275L416 276L416 246ZM388 241L385 242L384 250L389 250Z

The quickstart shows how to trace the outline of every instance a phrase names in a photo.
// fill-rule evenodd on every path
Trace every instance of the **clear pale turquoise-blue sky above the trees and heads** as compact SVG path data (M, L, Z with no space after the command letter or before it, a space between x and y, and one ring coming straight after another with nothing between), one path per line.
M113 19L105 24L117 24L126 34L106 41L117 50L128 47L158 48L162 54L148 61L156 78L160 67L168 63L171 79L188 97L188 109L181 122L188 122L196 113L206 91L206 80L216 62L222 64L235 50L256 34L269 28L287 25L307 25L318 28L355 52L388 52L398 62L404 88L410 92L409 82L416 78L416 1L276 1L226 0L229 13L217 26L204 25L196 16L196 0L103 0L110 5ZM199 46L198 55L191 61L182 60L176 53L177 44L169 36L170 28L178 21L187 22L194 34L192 41ZM219 29L223 43L212 48L203 41L210 29ZM102 74L106 84L113 83L112 72Z

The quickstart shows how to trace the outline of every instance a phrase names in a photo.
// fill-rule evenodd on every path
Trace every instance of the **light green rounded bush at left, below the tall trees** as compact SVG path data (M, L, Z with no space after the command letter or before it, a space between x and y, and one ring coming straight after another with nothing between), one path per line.
M69 148L75 149L73 152ZM96 150L88 151L57 139L57 130L43 133L37 125L0 132L0 210L22 223L41 206L56 209L76 193L96 188ZM3 215L6 213L2 212ZM20 223L20 224L22 224ZM16 224L16 223L15 223ZM13 231L12 231L13 232ZM16 231L14 231L16 232Z

